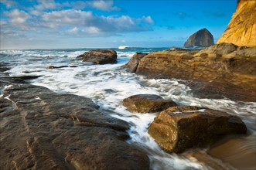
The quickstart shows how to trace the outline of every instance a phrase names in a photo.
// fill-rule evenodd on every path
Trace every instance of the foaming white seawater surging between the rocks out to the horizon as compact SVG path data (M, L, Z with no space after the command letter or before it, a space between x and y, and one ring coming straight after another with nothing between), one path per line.
M166 100L172 99L176 104L208 107L241 117L247 126L248 135L240 137L243 148L237 148L237 151L243 149L244 152L240 153L242 158L243 155L246 158L246 155L254 153L256 103L196 98L183 80L149 79L135 73L128 73L122 67L128 63L135 52L150 53L163 49L167 48L122 46L114 49L118 53L118 62L106 65L83 63L76 58L90 49L1 50L0 63L8 63L10 70L5 71L6 75L39 76L37 79L29 80L29 83L47 87L57 93L88 97L100 106L102 113L128 122L130 138L127 142L145 151L150 159L150 169L210 169L209 160L218 162L227 169L233 167L232 163L221 162L208 155L203 149L198 152L206 156L205 159L197 158L190 153L176 155L162 151L147 132L156 114L131 113L122 104L125 98L139 93L156 94ZM53 68L51 69L49 66L55 66L55 68L51 67Z

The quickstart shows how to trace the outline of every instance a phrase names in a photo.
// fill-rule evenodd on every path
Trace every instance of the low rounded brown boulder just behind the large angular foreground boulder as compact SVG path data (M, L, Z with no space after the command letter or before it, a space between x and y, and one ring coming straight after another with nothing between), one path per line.
M128 110L138 113L157 112L177 105L172 100L164 100L155 94L137 94L126 98L123 104Z

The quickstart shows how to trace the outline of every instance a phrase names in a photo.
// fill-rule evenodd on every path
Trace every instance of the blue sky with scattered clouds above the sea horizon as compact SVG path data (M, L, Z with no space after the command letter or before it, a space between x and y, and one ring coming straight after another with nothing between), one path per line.
M214 42L237 0L0 0L1 49L182 47L206 28Z

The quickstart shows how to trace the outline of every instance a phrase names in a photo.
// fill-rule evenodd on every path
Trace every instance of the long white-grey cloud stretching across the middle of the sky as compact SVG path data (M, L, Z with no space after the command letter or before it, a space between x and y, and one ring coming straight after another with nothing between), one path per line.
M133 32L148 30L143 23L153 23L150 16L141 19L133 19L128 15L121 16L97 16L92 12L80 10L63 10L45 12L42 15L42 25L50 28L63 26L82 27L84 32L97 34L99 32Z

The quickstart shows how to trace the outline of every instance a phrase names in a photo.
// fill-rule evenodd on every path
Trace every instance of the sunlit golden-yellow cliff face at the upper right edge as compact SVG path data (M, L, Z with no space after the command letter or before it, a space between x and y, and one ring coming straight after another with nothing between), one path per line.
M256 46L256 1L238 0L225 32L220 36L221 42L234 43L237 46Z

